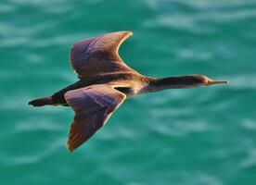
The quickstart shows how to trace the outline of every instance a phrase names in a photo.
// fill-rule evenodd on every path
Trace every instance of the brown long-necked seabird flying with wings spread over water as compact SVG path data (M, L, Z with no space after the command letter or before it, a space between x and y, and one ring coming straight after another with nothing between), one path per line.
M79 80L57 93L29 102L33 106L71 107L74 117L67 142L70 152L102 128L127 98L166 89L228 83L204 75L167 78L142 75L128 67L119 56L121 44L131 35L132 31L116 31L74 43L70 49L70 66Z

